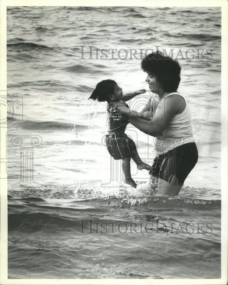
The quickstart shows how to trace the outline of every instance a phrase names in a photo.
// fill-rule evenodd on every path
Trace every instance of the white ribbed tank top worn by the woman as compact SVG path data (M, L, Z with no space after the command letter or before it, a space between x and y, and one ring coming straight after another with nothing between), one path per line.
M180 95L177 92L173 92L166 97L173 94ZM183 98L183 96L181 97ZM160 104L158 104L158 107ZM155 137L154 150L156 154L166 153L177 146L193 143L195 141L192 132L191 113L186 100L185 104L186 107L184 111L181 114L175 115L168 125L168 128L161 135Z

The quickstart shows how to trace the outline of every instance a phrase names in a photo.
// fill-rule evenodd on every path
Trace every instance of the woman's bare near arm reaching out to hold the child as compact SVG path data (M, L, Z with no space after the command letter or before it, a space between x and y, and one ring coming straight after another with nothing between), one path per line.
M149 120L143 120L138 117L139 113L129 110L124 106L120 106L118 109L120 113L125 116L129 116L129 122L138 128L140 131L150 135L156 136L163 133L170 121L179 111L179 95L172 95L164 98L156 109L155 115Z

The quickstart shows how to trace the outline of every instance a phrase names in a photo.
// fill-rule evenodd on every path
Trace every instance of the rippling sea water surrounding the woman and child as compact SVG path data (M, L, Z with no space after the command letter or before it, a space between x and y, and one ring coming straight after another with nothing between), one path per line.
M9 278L220 278L220 12L217 7L7 8L7 90L23 97L23 124L8 133L8 158L19 159L8 164L9 174L20 177L13 135L24 135L24 142L42 138L33 148L36 184L8 180ZM80 46L84 51L93 46L92 59L88 53L81 59ZM133 163L136 190L115 171L110 183L110 156L102 144L105 103L87 101L103 79L116 80L125 92L147 88L140 59L130 59L129 49L155 46L168 53L173 48L174 56L192 48L196 55L178 59L179 92L191 108L199 160L171 199L152 196L148 173L137 172ZM114 51L116 59L108 53L102 60L98 51L96 59L95 48L126 49L128 58ZM204 49L204 56L211 49L213 56L196 59L196 49ZM20 118L15 109L13 123ZM126 133L152 164L153 138L130 125ZM12 187L16 183L19 187ZM80 219L150 222L154 231L82 234ZM204 223L203 230L212 223L213 231L162 231L162 224L171 222L175 229L179 223Z

